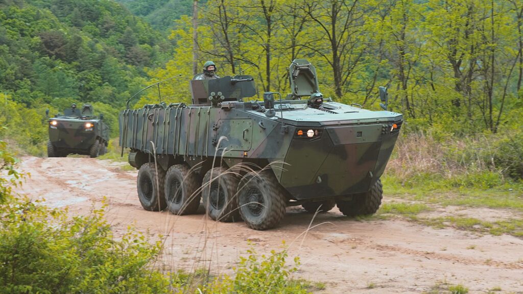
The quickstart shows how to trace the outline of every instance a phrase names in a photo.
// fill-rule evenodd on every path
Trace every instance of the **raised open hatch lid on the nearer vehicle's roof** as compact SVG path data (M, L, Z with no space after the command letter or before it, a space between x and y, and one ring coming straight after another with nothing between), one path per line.
M289 66L292 99L309 98L313 93L320 92L316 69L306 59L294 59Z

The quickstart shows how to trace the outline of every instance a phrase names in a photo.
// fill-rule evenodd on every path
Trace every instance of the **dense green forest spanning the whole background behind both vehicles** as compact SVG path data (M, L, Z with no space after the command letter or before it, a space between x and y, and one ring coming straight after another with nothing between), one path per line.
M44 109L53 113L72 101L94 104L116 135L117 111L126 98L178 74L163 85L163 95L188 102L192 4L2 2L0 91L5 110L0 111L0 138L38 154L47 139ZM521 162L520 1L198 4L199 66L213 60L221 76L240 71L255 76L258 93L287 93L290 62L306 58L316 66L323 94L335 100L377 110L378 86L388 86L391 108L406 117L406 135L430 134L431 140L450 144L482 134L489 145L509 142L505 153L511 157L505 161ZM155 102L150 95L137 105ZM498 170L491 153L484 162ZM499 170L515 168L516 175L523 174L523 166L514 165Z

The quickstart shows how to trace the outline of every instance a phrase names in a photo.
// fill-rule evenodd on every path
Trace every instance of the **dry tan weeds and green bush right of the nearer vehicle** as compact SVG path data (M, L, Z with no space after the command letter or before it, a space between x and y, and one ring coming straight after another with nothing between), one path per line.
M402 135L385 174L402 186L492 188L523 179L523 132Z

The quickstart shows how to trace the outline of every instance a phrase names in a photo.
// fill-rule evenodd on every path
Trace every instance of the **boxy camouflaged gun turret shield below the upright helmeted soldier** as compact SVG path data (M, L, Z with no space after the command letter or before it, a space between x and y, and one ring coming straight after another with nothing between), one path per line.
M256 85L251 75L225 76L212 80L190 81L193 104L209 104L213 99L219 101L242 101L256 95Z

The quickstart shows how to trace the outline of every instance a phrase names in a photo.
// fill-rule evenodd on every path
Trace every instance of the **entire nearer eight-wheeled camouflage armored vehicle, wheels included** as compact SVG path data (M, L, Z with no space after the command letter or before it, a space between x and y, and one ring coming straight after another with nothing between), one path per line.
M139 169L143 208L195 213L201 197L212 219L242 218L255 230L277 225L287 206L376 212L403 122L386 111L386 89L384 111L370 111L324 99L306 60L292 62L289 78L285 99L268 92L249 100L253 77L240 75L190 81L191 105L123 110L120 145Z

